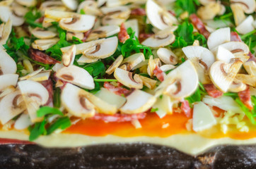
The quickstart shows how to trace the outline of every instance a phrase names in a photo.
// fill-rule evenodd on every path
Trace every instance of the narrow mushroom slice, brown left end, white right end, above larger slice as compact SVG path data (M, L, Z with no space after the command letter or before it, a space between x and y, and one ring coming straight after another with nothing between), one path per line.
M117 25L107 25L103 27L98 27L90 33L86 41L88 42L95 39L110 37L112 35L117 34L118 32L120 32L120 27Z

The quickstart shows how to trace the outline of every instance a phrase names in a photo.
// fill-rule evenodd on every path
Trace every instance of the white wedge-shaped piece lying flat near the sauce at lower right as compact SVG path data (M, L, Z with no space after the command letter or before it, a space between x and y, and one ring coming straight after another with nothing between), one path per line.
M202 101L194 104L192 121L193 130L195 132L206 130L213 125L216 125L216 119L214 118L213 113L211 113L211 109Z

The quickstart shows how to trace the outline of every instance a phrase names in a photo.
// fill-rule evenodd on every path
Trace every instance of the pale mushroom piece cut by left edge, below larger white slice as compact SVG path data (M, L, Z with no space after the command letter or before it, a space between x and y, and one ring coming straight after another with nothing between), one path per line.
M18 75L17 74L6 74L0 75L0 94L1 91L6 89L9 86L16 87L18 82Z

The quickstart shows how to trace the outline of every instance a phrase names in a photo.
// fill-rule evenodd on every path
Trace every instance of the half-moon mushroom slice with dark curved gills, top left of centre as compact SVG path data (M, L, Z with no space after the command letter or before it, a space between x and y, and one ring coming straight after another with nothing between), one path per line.
M95 23L93 15L78 15L74 18L63 18L59 20L59 26L70 32L86 32L91 30Z

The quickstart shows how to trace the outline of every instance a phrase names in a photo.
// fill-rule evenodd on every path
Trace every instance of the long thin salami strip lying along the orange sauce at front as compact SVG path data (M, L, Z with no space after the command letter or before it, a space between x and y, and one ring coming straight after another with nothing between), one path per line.
M138 114L116 113L115 115L95 114L91 119L103 120L105 122L127 122L127 121L139 120L144 118L146 118L146 113L138 113Z

